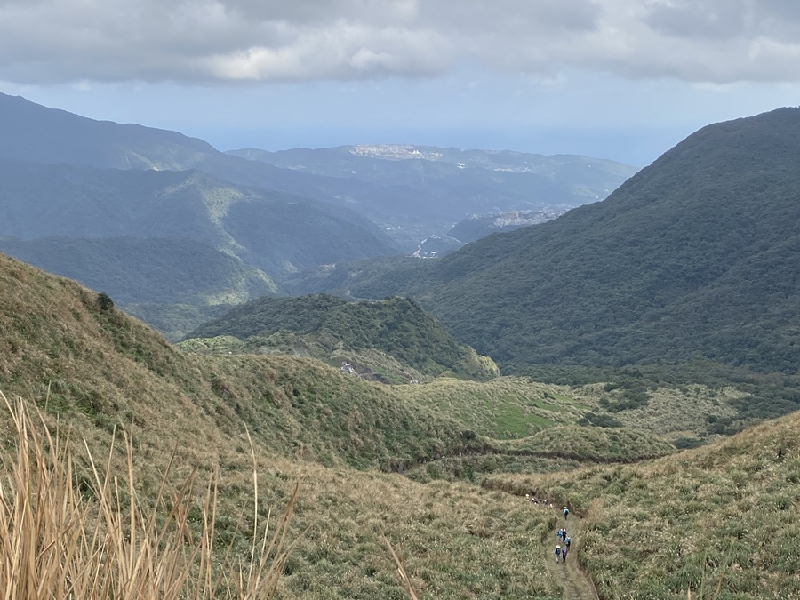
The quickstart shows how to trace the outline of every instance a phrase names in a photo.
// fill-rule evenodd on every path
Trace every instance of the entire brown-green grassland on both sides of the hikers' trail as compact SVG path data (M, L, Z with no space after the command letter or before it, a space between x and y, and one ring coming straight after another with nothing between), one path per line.
M592 398L599 403L591 387L436 384L448 382L487 386L469 392L493 395L480 410L494 402L538 404L533 408L554 415L554 423L578 418ZM618 392L625 397L612 388L605 392L611 402ZM792 597L800 589L791 509L798 493L796 416L654 462L579 468L587 460L672 451L652 430L568 420L492 441L448 416L456 404L434 409L421 396L414 400L311 358L185 354L103 305L97 293L4 256L0 389L40 409L50 430L69 434L63 439L74 447L84 497L92 493L84 444L117 465L124 452L109 452L115 430L131 436L132 489L146 504L171 460L171 491L195 467L201 478L219 468L216 532L220 548L232 544L235 561L252 543L244 532L253 511L266 518L300 482L288 532L297 545L282 572L282 598L399 600L404 592L386 536L420 595L556 600L564 589L548 561L558 521L551 508L523 500L530 492L583 517L572 529L573 559L603 597L683 598L687 588L700 597L719 581L730 597ZM695 392L686 406L699 402ZM444 391L434 393L444 398ZM478 406L469 394L463 402ZM255 506L245 428L260 477ZM14 446L12 429L9 416L0 415L4 460L12 460L5 454ZM115 472L126 489L122 463ZM202 485L197 493L204 495ZM201 525L201 517L190 516L189 526Z

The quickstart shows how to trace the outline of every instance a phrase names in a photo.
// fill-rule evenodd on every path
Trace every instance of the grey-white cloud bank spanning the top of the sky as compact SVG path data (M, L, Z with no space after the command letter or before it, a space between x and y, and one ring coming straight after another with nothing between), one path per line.
M0 0L0 79L285 82L461 61L726 84L800 81L796 0Z

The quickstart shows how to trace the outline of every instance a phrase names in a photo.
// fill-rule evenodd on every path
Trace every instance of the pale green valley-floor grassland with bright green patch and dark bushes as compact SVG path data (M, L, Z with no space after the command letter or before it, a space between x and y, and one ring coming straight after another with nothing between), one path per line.
M432 411L459 420L476 434L496 440L524 438L554 426L595 424L636 429L671 443L707 443L718 437L716 423L737 412L734 403L748 401L747 393L732 387L665 384L643 391L612 384L555 385L510 376L484 382L440 378L424 386L396 389ZM590 429L588 436L593 435Z

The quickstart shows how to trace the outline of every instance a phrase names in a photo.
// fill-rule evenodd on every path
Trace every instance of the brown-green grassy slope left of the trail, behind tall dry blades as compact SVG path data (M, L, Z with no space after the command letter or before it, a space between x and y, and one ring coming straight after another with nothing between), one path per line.
M531 553L548 524L515 499L467 484L416 484L379 471L396 460L462 452L479 440L383 386L311 359L187 356L96 295L0 256L0 388L23 396L97 455L112 428L132 436L134 476L145 500L176 449L176 476L220 467L221 542L236 552L252 514L244 423L260 472L260 512L279 508L299 478L284 598L400 598L380 538L403 556L433 597L556 598ZM0 444L10 447L7 418ZM116 456L116 454L115 454ZM319 461L331 464L325 467ZM124 473L120 465L119 473ZM78 460L76 481L88 476Z

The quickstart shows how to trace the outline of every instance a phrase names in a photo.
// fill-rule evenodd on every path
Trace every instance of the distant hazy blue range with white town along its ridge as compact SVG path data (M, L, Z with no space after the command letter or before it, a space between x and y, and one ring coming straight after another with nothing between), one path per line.
M354 194L348 205L387 228L405 252L415 250L431 235L444 235L453 224L472 215L566 212L602 200L636 172L626 164L587 156L407 144L278 152L245 148L228 154L371 186L368 201Z

